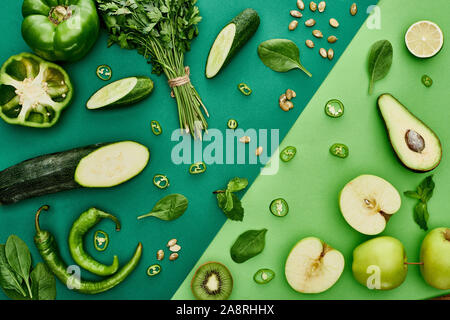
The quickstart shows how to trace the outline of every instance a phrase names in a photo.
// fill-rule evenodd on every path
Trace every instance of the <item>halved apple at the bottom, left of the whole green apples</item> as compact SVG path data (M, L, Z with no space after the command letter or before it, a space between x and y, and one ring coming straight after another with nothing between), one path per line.
M344 256L316 237L300 240L286 260L289 285L301 293L320 293L331 288L344 270Z

